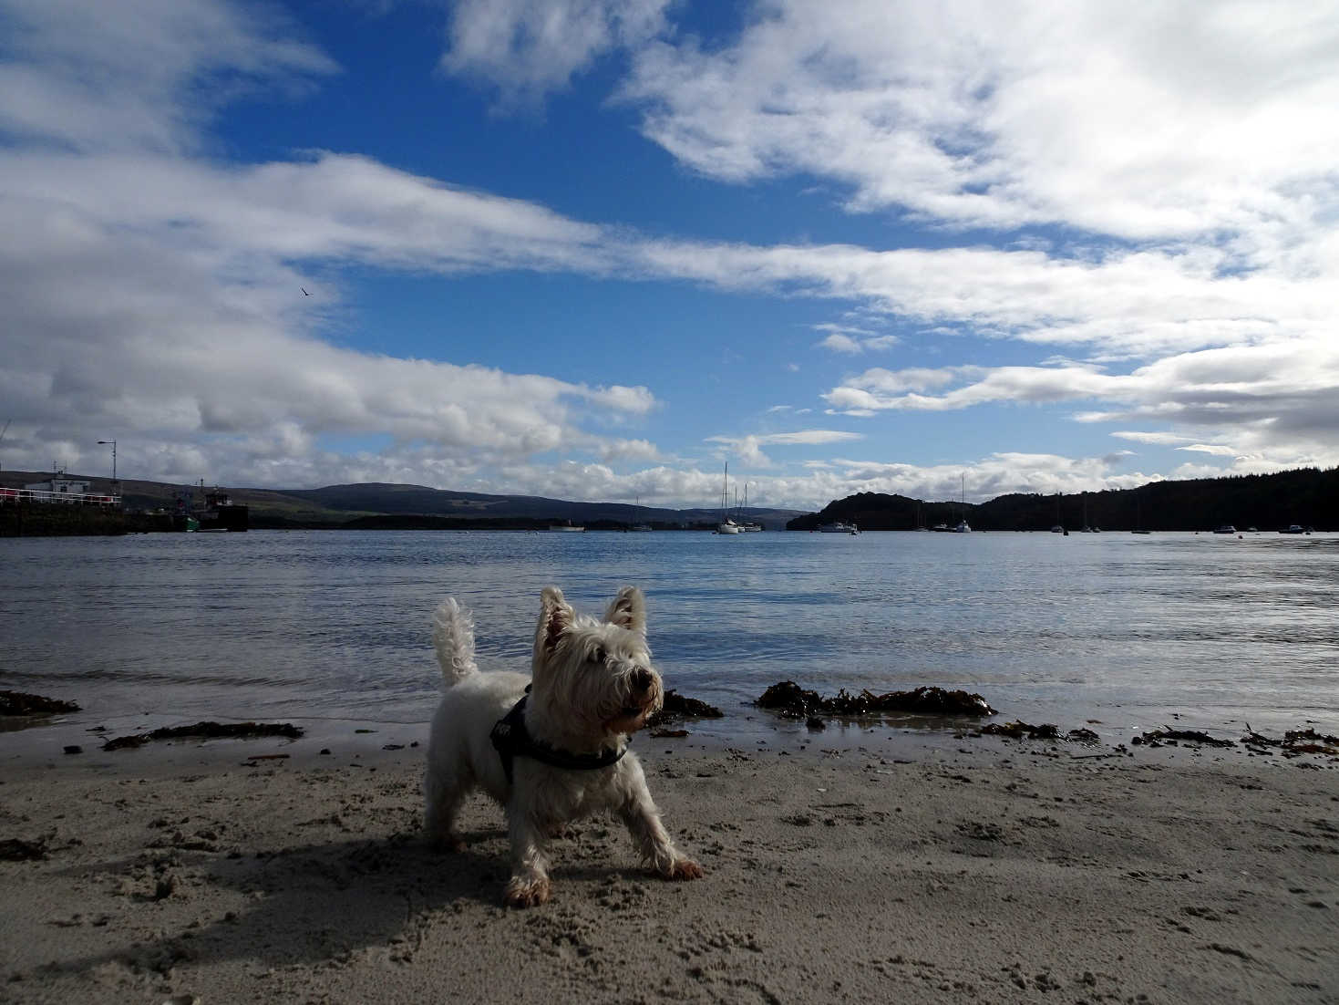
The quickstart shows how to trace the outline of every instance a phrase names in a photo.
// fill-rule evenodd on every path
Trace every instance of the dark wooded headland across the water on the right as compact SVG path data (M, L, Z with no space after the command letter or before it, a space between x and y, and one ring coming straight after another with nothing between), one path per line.
M795 517L786 529L811 531L842 520L862 531L913 531L917 525L952 527L964 515L973 531L1046 531L1056 524L1069 531L1085 524L1103 531L1212 531L1224 524L1239 531L1277 531L1289 524L1339 529L1339 468L1154 481L1137 489L1078 494L1014 493L965 507L862 492Z

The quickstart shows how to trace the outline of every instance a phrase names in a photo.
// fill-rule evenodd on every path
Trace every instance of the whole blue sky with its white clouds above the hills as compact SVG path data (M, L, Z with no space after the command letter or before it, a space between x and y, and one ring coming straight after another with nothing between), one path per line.
M1332 466L1336 51L1335 3L0 0L0 468Z

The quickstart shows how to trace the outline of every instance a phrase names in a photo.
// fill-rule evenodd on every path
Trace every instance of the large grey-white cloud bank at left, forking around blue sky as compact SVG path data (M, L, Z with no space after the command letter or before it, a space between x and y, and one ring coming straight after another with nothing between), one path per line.
M319 287L300 260L572 268L593 228L530 204L337 155L224 172L7 151L0 178L0 292L21 360L5 378L43 427L79 415L141 436L229 436L295 421L533 453L597 445L578 433L581 410L655 407L645 387L371 356L311 336L320 319L296 295Z

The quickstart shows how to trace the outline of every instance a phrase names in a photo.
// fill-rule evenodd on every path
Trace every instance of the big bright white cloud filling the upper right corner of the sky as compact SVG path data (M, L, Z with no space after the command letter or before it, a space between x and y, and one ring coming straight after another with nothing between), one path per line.
M854 210L1287 247L1334 206L1339 7L771 0L648 44L625 99L684 163L813 174Z

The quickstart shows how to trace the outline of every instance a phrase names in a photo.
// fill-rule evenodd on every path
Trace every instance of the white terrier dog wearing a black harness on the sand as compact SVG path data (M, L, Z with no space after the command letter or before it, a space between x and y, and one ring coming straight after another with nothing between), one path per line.
M665 879L698 879L702 867L675 848L628 734L663 701L647 647L641 591L624 587L604 620L580 615L556 587L540 598L532 677L479 673L474 622L454 598L432 618L446 694L427 750L424 827L459 851L461 803L482 788L506 807L511 879L506 903L549 899L546 840L569 820L616 812L641 856Z

